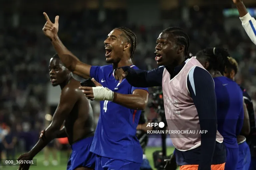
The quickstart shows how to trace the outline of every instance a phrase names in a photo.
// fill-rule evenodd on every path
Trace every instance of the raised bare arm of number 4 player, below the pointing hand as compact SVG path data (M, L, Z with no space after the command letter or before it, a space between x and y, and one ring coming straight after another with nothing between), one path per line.
M60 41L58 35L52 39L52 45L58 53L63 64L74 74L85 79L90 77L91 65L81 62L65 45Z

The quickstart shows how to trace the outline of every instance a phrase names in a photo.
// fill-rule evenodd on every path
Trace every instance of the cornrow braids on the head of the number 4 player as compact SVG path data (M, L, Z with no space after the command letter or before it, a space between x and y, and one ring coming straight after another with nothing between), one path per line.
M130 52L131 52L131 58L132 58L135 53L136 46L137 46L137 36L135 35L134 32L132 32L130 29L128 29L126 27L118 27L115 29L122 31L125 34L125 36L128 38L129 43L131 44Z

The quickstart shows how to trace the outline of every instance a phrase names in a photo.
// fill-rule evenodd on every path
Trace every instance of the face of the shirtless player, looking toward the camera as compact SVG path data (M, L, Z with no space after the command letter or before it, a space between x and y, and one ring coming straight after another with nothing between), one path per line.
M69 75L69 70L62 65L59 59L51 58L49 64L49 73L53 86L58 86L67 80Z

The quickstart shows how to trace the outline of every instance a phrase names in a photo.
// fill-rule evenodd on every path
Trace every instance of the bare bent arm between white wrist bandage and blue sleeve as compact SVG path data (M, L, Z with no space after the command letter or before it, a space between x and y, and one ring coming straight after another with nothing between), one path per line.
M142 89L136 89L132 94L114 92L113 102L129 109L144 110L148 103L148 92Z

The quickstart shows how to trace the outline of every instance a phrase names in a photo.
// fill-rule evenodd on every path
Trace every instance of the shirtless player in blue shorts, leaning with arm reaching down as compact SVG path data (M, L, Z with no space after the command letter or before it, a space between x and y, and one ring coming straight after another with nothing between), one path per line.
M49 73L52 85L59 85L61 88L60 102L44 135L28 153L21 155L18 160L32 160L52 139L68 137L72 153L67 170L94 169L96 155L90 152L94 136L90 102L78 89L80 82L72 78L71 72L64 67L57 54L50 60ZM60 130L63 122L65 126ZM28 168L28 164L20 164L19 170Z

